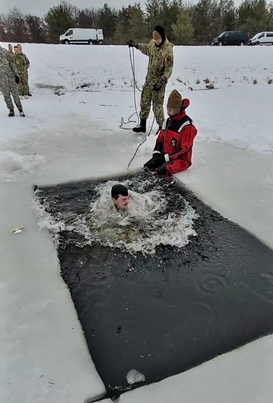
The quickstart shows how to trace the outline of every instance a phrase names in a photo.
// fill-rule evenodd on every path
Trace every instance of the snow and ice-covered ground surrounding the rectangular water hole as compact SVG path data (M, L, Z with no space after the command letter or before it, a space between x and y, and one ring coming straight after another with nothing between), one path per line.
M8 118L0 96L0 400L82 403L105 387L32 185L125 172L145 137L120 128L135 112L127 47L25 44L23 51L33 93L22 101L26 117ZM272 48L175 47L174 56L167 96L176 88L189 97L199 130L193 166L178 177L273 247ZM135 66L141 88L147 58L139 52ZM139 100L137 92L138 109ZM149 158L155 130L131 169ZM272 402L271 352L267 336L120 401Z

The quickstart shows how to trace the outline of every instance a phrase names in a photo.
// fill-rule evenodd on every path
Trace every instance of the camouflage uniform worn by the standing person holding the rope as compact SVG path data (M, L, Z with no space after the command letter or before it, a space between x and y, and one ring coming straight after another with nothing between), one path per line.
M147 120L152 103L156 122L159 126L162 126L165 120L163 104L166 86L173 68L172 48L173 44L167 38L162 46L156 46L154 40L151 40L149 44L138 44L137 47L149 57L146 81L141 94L140 117ZM161 81L163 85L159 91L154 91L153 87L158 81Z

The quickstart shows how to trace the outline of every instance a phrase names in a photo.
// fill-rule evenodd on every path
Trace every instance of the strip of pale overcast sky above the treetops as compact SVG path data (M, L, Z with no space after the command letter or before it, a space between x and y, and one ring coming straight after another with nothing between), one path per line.
M41 1L41 2L40 2ZM56 0L0 0L0 13L6 14L12 7L18 7L24 14L33 14L43 16L50 7L58 5L60 1ZM99 8L107 2L108 5L116 8L121 8L122 5L134 4L140 2L142 7L145 7L145 0L70 0L67 1L76 5L79 8L95 7ZM192 0L197 2L197 0ZM235 4L241 3L242 0L235 0Z

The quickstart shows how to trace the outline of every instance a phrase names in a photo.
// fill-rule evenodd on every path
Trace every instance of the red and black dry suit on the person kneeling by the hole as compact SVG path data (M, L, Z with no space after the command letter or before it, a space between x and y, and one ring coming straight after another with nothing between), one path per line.
M182 112L164 121L156 140L153 157L159 154L165 157L166 162L159 171L163 168L167 171L167 176L185 171L192 164L192 146L197 129L185 112L188 107L189 99L185 98Z

